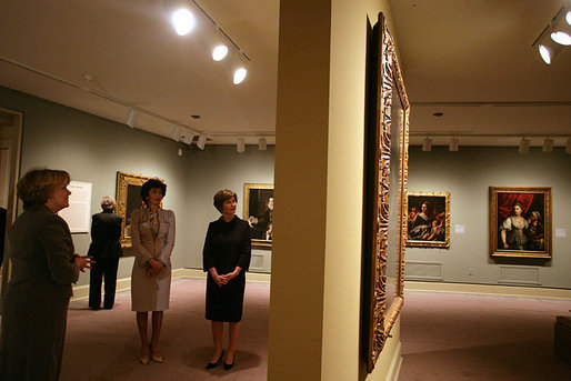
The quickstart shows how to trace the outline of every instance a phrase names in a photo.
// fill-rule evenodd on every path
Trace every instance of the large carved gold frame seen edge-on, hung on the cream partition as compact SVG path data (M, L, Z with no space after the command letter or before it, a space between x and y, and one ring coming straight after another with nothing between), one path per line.
M394 88L395 86L395 88ZM365 195L363 231L363 357L371 372L403 304L404 239L407 233L407 179L409 151L410 103L404 89L393 39L387 21L379 13L372 33L368 36L367 68L367 134L365 134ZM391 126L393 96L401 109L397 126ZM391 128L400 138L400 158L391 157ZM390 189L391 160L399 160L399 181ZM397 225L389 248L389 192L397 192ZM394 211L393 211L394 212ZM388 252L397 253L394 295L387 303ZM390 264L392 265L392 264Z

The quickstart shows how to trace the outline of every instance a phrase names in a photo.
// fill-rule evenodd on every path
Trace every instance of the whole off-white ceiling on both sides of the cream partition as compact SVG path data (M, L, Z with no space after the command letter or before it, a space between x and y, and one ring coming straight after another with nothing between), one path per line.
M200 32L209 22L199 19L203 26L179 37L162 0L2 1L0 84L121 123L124 104L133 104L160 116L139 113L137 128L167 137L178 123L214 143L238 136L272 143L279 0L198 2L250 57L242 84L233 86L229 68L209 58ZM547 66L532 47L563 0L390 3L412 143L443 134L433 139L445 144L455 134L461 144L517 144L525 133L559 134L555 144L565 144L571 48ZM520 136L498 137L508 134Z

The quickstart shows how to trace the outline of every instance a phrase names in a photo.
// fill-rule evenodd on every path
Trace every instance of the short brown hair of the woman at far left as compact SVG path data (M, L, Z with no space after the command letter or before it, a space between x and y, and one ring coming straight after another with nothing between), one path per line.
M56 188L69 184L70 177L66 171L54 169L32 169L18 181L18 197L23 201L23 209L48 202Z

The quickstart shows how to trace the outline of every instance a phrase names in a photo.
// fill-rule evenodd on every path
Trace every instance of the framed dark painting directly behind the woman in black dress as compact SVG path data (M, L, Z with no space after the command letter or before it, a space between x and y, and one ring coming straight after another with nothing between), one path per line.
M273 184L244 184L243 219L252 228L252 245L271 248L273 234Z

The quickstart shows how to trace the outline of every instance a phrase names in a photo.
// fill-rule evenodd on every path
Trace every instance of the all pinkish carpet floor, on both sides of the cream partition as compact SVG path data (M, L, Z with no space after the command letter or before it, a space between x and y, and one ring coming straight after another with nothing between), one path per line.
M172 283L160 341L162 364L137 360L140 344L129 291L117 294L110 311L89 310L87 299L72 301L61 380L266 380L269 299L269 283L248 282L230 371L220 365L204 370L212 344L203 280ZM570 308L564 300L407 292L399 381L571 380L571 365L553 354L555 315Z

